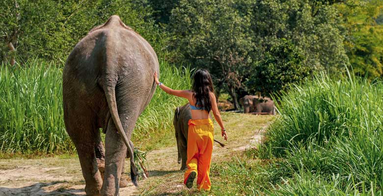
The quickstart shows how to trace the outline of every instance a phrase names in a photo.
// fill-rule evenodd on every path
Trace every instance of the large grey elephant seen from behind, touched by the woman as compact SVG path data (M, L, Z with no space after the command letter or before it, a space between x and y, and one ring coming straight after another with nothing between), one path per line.
M127 148L137 185L129 141L154 94L155 71L152 47L118 16L93 28L69 55L62 75L64 121L79 154L86 195L118 195ZM106 130L105 152L99 128ZM104 158L102 179L98 165Z

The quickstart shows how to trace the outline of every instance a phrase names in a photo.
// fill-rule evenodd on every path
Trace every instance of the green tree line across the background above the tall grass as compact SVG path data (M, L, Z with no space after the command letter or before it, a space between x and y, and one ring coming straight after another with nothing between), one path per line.
M236 108L317 72L383 76L383 0L3 0L0 61L64 60L111 15L160 58L208 69Z

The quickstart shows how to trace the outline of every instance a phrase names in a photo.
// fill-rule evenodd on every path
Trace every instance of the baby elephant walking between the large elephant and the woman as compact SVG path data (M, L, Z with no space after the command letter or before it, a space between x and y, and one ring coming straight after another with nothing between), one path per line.
M189 120L192 119L192 111L190 104L186 104L182 107L177 107L174 111L173 125L175 129L175 137L177 141L178 149L178 163L181 163L181 169L186 169L187 147L188 147L188 130Z

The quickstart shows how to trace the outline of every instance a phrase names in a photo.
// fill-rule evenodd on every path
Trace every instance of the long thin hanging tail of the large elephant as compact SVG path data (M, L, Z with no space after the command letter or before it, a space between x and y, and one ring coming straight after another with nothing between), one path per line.
M108 101L110 116L113 119L114 125L116 126L118 133L121 135L126 147L128 147L128 152L130 154L131 171L134 174L134 175L131 174L132 182L135 186L138 186L138 183L137 183L138 170L134 162L133 148L131 147L129 140L126 137L125 131L122 128L122 124L118 116L115 88L107 87L107 88L104 88L104 91Z

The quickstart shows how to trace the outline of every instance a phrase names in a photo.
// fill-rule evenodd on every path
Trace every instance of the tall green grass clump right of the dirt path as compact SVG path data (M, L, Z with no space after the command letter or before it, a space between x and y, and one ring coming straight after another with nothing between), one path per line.
M350 186L353 191L365 188L370 194L381 190L382 95L382 82L369 82L350 75L334 79L326 74L292 87L289 93L282 93L282 101L277 105L280 117L269 128L267 140L258 151L261 158L279 158L269 170L272 175L269 178L283 184L277 189L299 188L282 179L297 181L297 176L311 173L315 177L312 180L317 180L310 182L311 185L323 186L323 190L336 183L331 182L334 175L339 175L338 181L342 183L337 189L342 193L350 191ZM353 182L346 183L345 179L350 176ZM304 180L307 179L298 180L294 186L301 186L299 181ZM318 184L320 181L331 183Z

